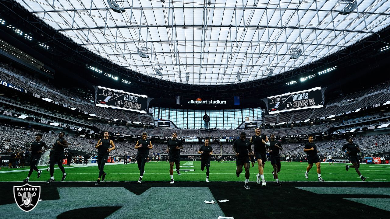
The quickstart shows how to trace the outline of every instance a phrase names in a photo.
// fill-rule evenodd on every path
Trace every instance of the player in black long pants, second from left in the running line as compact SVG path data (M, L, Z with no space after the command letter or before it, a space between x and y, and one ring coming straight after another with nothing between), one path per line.
M62 181L66 178L65 169L62 166L62 159L64 159L64 148L68 148L69 144L64 138L65 132L61 131L58 134L58 139L53 145L53 155L50 157L50 179L46 183L50 183L54 181L54 164L57 162L58 167L62 171Z

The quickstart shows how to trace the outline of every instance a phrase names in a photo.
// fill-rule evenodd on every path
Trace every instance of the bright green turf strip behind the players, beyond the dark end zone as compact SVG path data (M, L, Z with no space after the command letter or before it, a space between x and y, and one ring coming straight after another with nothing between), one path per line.
M56 165L57 166L57 165ZM304 172L307 167L307 162L282 162L281 171L278 173L280 181L316 181L317 172L315 166L309 172L309 179L306 179ZM46 167L38 167L43 169ZM3 167L0 170L0 182L22 181L27 177L29 167L24 169L8 169ZM16 170L15 172L5 172ZM23 170L23 171L19 171ZM66 181L95 181L99 174L97 166L80 166L80 167L65 167L67 177ZM200 161L181 161L181 176L174 171L175 181L205 181L206 170L200 170ZM188 170L188 171L186 171ZM270 162L266 162L264 169L264 177L267 182L274 181L271 172L272 166ZM363 176L367 177L370 182L390 182L390 166L386 164L362 164L360 171ZM107 173L107 181L137 181L139 170L137 164L117 164L106 165L105 172ZM218 163L211 161L210 166L210 181L244 181L245 170L240 177L236 177L236 162L227 161ZM256 180L258 168L250 168L250 181ZM61 171L57 168L54 172L56 180L61 179ZM30 182L46 181L50 177L48 171L44 170L41 177L37 178L37 172L33 172L30 177ZM345 170L345 164L335 164L329 166L328 163L321 163L321 177L325 181L360 181L355 169ZM149 162L145 165L145 175L143 181L169 181L169 164L165 161Z

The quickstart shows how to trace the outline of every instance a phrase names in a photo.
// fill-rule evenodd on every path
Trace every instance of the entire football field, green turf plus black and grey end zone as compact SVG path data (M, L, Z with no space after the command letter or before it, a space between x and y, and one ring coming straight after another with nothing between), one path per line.
M96 164L65 167L67 177L55 167L56 181L46 184L50 177L46 167L40 178L31 175L28 185L39 186L39 202L30 212L16 204L15 186L25 186L29 167L0 171L0 212L2 218L93 218L93 219L234 219L265 218L388 218L390 215L390 165L362 164L360 171L367 177L362 182L354 169L346 171L345 164L329 166L321 163L317 181L316 168L305 178L306 162L282 162L278 186L272 167L265 164L266 186L256 183L257 166L250 168L250 189L244 188L245 171L236 177L236 163L211 161L210 182L200 161L181 161L181 175L174 171L170 184L169 164L165 161L145 165L142 184L135 163L106 164L106 180L94 185L99 171ZM204 201L229 200L208 204ZM44 216L43 216L44 215Z

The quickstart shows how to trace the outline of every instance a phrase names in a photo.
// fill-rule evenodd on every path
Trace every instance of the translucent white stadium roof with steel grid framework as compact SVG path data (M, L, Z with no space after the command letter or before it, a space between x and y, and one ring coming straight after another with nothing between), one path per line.
M390 23L387 0L17 2L103 58L151 77L194 85L280 74ZM351 12L339 14L342 9Z

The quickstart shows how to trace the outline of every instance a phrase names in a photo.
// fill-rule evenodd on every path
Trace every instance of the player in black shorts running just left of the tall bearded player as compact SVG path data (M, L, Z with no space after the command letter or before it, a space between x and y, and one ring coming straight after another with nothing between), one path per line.
M240 138L233 143L233 152L236 155L236 176L240 177L240 173L245 168L245 184L244 188L249 189L249 156L253 155L252 143L246 139L245 132L241 132Z

